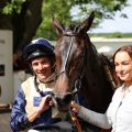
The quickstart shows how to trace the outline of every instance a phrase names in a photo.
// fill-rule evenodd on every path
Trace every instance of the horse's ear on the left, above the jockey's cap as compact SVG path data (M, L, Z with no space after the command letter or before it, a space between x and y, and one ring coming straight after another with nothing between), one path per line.
M64 25L59 23L59 21L56 18L53 18L53 25L57 30L58 34L62 34L64 32Z

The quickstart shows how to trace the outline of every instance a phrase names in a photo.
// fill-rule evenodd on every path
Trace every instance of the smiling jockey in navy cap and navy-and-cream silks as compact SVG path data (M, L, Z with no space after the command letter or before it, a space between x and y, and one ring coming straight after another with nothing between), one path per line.
M23 57L33 76L21 84L11 111L13 132L62 121L66 114L52 107L55 85L54 46L45 38L33 40L23 50Z

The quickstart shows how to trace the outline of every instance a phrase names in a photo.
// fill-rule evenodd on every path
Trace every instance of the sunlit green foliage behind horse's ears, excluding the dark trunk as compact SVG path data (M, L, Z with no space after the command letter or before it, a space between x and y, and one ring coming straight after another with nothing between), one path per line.
M35 37L43 36L56 40L56 32L52 25L52 15L59 19L64 24L78 23L82 21L91 11L96 12L92 28L103 19L112 19L117 11L121 11L127 6L127 0L46 0L43 4L42 14L44 19L37 29ZM74 12L74 15L72 15ZM76 13L78 12L78 13ZM122 16L127 16L122 13Z

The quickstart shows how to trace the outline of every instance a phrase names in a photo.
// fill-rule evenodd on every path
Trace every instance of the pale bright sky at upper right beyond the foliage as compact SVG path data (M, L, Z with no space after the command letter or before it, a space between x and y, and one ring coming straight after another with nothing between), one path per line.
M100 23L99 28L91 30L95 33L110 33L122 32L132 33L132 0L128 1L130 7L125 7L122 11L127 13L129 19L120 18L120 12L117 12L114 20L105 20Z

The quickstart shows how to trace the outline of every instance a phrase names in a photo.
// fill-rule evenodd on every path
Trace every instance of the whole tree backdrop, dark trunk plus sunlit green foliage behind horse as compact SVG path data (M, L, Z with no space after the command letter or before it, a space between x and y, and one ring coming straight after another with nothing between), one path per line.
M127 6L128 0L1 0L0 29L13 31L14 52L33 37L55 40L52 16L64 24L78 23L89 12L96 12L95 24L112 18ZM76 9L75 15L72 10ZM125 16L124 14L122 14ZM37 32L36 32L37 31Z

